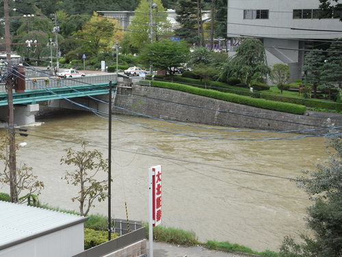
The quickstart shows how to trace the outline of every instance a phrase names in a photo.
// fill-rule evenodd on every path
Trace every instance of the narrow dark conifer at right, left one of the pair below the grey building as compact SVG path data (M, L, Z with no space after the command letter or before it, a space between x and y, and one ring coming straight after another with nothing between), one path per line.
M317 95L317 86L321 83L321 71L324 65L324 54L319 49L306 53L303 69L306 73L306 82L313 86L313 97Z

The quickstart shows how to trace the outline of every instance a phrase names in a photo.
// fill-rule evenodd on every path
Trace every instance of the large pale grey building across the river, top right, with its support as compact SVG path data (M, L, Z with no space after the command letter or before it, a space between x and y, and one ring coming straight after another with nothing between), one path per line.
M230 37L263 40L267 64L289 64L291 80L302 78L304 51L325 40L342 38L342 22L318 19L319 0L227 0ZM321 42L319 42L321 41Z

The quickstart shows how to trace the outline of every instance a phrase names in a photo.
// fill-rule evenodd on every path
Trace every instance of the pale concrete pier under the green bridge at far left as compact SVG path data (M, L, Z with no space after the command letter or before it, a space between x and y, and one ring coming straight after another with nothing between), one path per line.
M14 124L17 126L29 125L36 121L35 114L39 111L39 104L14 105ZM0 119L8 121L8 106L1 106Z

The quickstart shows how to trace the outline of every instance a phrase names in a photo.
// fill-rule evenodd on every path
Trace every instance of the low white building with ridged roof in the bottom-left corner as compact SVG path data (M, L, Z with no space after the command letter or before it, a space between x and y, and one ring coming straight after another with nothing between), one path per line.
M70 257L84 250L88 218L0 201L0 257Z

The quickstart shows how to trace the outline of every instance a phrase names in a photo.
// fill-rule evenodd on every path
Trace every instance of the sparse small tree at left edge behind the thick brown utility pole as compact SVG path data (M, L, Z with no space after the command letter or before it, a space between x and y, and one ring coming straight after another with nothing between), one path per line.
M18 148L18 145L16 145ZM10 160L8 154L8 137L2 135L0 143L0 162L3 163L3 171L0 173L0 182L3 184L14 185L14 199L18 199L19 203L38 204L38 195L44 188L44 183L38 180L34 175L32 167L28 167L23 163L16 168L16 176L13 178L10 174ZM25 194L25 195L23 195Z

